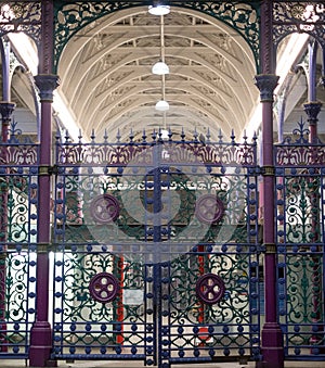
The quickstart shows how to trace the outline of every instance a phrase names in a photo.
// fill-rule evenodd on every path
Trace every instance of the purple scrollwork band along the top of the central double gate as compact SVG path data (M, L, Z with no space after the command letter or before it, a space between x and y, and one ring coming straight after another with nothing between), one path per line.
M171 135L172 136L172 135ZM56 142L56 162L60 165L68 166L80 164L82 166L93 166L107 164L108 166L123 166L132 162L139 166L147 166L154 163L152 147L156 151L164 151L161 162L166 164L193 163L206 164L207 167L235 165L235 166L255 166L256 165L256 137L252 143L247 142L244 137L243 143L235 142L231 137L231 142L225 142L222 137L219 142L207 141L205 143L197 140L162 141L157 135L152 140L143 140L129 143L109 143L105 139L103 142L73 143L69 136L65 142Z

